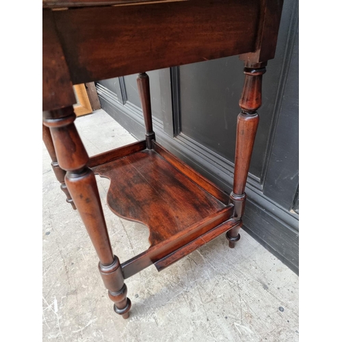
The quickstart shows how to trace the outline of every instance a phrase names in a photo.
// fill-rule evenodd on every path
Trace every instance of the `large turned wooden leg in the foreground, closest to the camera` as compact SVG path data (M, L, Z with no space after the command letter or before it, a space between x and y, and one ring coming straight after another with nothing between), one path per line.
M73 107L43 112L43 122L50 127L57 161L60 168L66 170L65 181L71 198L100 259L98 268L109 298L114 301L114 311L128 318L131 301L127 298L120 261L111 251L96 179L87 166L89 157L77 133L75 118Z

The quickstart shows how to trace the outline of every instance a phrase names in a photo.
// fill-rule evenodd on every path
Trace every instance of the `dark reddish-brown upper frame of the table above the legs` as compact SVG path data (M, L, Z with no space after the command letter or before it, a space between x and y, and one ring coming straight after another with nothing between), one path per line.
M74 103L73 84L232 55L267 62L282 0L44 0L43 7L43 110L49 110Z

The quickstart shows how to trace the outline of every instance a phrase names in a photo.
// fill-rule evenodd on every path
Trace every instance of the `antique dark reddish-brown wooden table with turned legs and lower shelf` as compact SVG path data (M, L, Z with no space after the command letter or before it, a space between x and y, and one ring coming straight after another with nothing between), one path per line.
M222 233L231 248L239 240L262 75L274 58L281 11L282 0L43 1L43 140L122 317L131 308L124 279L152 264L160 271ZM244 61L245 83L226 194L157 143L144 70L231 55ZM73 84L133 73L146 139L89 158L74 124ZM111 179L110 209L150 230L150 248L124 263L111 250L94 174Z

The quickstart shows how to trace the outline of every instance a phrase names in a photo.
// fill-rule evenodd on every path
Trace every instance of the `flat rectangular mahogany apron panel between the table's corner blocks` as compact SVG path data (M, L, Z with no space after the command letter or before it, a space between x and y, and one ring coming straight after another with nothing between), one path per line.
M200 0L53 15L78 84L254 51L259 8L254 0Z

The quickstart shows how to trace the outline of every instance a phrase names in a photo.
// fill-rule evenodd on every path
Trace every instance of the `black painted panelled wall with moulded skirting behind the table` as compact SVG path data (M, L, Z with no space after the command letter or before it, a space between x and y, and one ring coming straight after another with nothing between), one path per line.
M243 68L235 56L148 72L157 140L229 192ZM103 109L143 139L136 75L99 81L96 88ZM297 0L285 0L259 116L244 229L298 273Z

